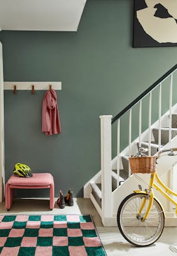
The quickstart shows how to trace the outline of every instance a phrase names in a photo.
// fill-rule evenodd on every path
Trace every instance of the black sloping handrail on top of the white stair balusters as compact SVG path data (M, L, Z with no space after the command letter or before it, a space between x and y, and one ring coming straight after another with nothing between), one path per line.
M167 78L174 70L177 69L177 64L174 65L173 68L171 68L169 71L166 72L163 76L161 76L155 83L152 84L148 89L145 90L145 92L141 93L136 99L134 99L126 108L124 108L120 113L118 113L116 116L113 117L111 123L113 124L120 116L124 115L129 109L131 109L136 103L139 102L139 100L143 99L149 92L151 92L157 85L159 85L164 79Z

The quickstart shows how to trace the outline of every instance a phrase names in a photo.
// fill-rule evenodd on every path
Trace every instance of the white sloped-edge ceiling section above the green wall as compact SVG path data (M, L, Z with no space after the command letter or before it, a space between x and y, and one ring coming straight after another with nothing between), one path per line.
M0 0L0 28L77 31L86 1Z

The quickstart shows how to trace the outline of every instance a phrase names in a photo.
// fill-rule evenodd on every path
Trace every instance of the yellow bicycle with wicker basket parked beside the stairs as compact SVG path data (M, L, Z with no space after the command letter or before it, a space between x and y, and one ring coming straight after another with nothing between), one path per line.
M155 243L163 232L165 214L159 200L154 197L153 188L157 189L176 206L177 214L177 202L170 196L177 196L177 193L167 188L157 175L157 170L155 170L155 161L160 157L160 154L169 152L169 156L174 156L174 151L177 151L177 148L161 150L157 157L149 157L149 159L144 154L143 157L129 158L130 161L131 159L135 159L137 163L141 163L139 166L136 164L136 171L134 173L151 173L148 188L142 191L141 186L139 186L140 189L125 197L118 207L118 228L122 236L131 244L136 246L148 246ZM141 152L143 152L142 148ZM142 153L139 154L141 155ZM147 164L144 159L145 161L153 161L153 167L152 163ZM144 166L142 165L143 161L145 163ZM145 165L148 166L148 170ZM131 171L132 169L131 166ZM145 172L143 172L143 169ZM157 185L157 183L160 186Z

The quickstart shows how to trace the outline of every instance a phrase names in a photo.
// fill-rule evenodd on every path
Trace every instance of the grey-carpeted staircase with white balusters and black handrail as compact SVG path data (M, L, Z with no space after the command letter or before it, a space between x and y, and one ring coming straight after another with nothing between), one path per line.
M149 175L131 175L129 168L129 156L138 152L139 147L148 148L146 154L153 156L162 148L177 147L177 100L173 102L173 76L177 70L177 64L164 76L160 77L145 92L139 95L129 106L123 109L117 116L100 116L101 118L101 171L90 179L84 186L84 197L90 198L99 212L104 226L117 226L117 209L125 196L138 188L138 184L146 188ZM177 74L177 72L176 72ZM169 110L162 114L162 88L169 80ZM152 95L154 89L158 89L159 116L152 124ZM148 97L148 129L142 131L142 102ZM132 141L132 110L138 105L139 131L138 138ZM120 152L120 122L125 113L129 113L129 145ZM117 156L111 159L111 124L117 122ZM124 131L122 131L124 132ZM159 159L157 170L159 176L166 175L167 171L177 163L177 157L162 157ZM166 176L166 179L169 179ZM171 177L172 179L172 177ZM167 182L166 182L167 183ZM168 184L170 186L170 184ZM161 198L160 198L161 201ZM164 202L165 204L165 202ZM174 225L171 218L174 213L165 207L166 225ZM177 224L177 221L175 221ZM175 224L175 225L176 225Z

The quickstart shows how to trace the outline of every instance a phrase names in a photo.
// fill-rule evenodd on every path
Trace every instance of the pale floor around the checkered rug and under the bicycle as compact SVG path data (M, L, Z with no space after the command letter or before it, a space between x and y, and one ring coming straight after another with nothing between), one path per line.
M74 198L74 206L66 206L59 209L57 205L50 211L48 200L16 199L10 211L6 211L5 205L0 204L1 214L92 214L97 231L108 256L170 256L177 255L169 249L170 245L177 245L177 227L164 228L160 239L145 248L136 248L125 241L117 227L103 227L101 218L97 214L92 202L89 199ZM176 246L177 248L177 246ZM81 255L80 255L81 256Z

